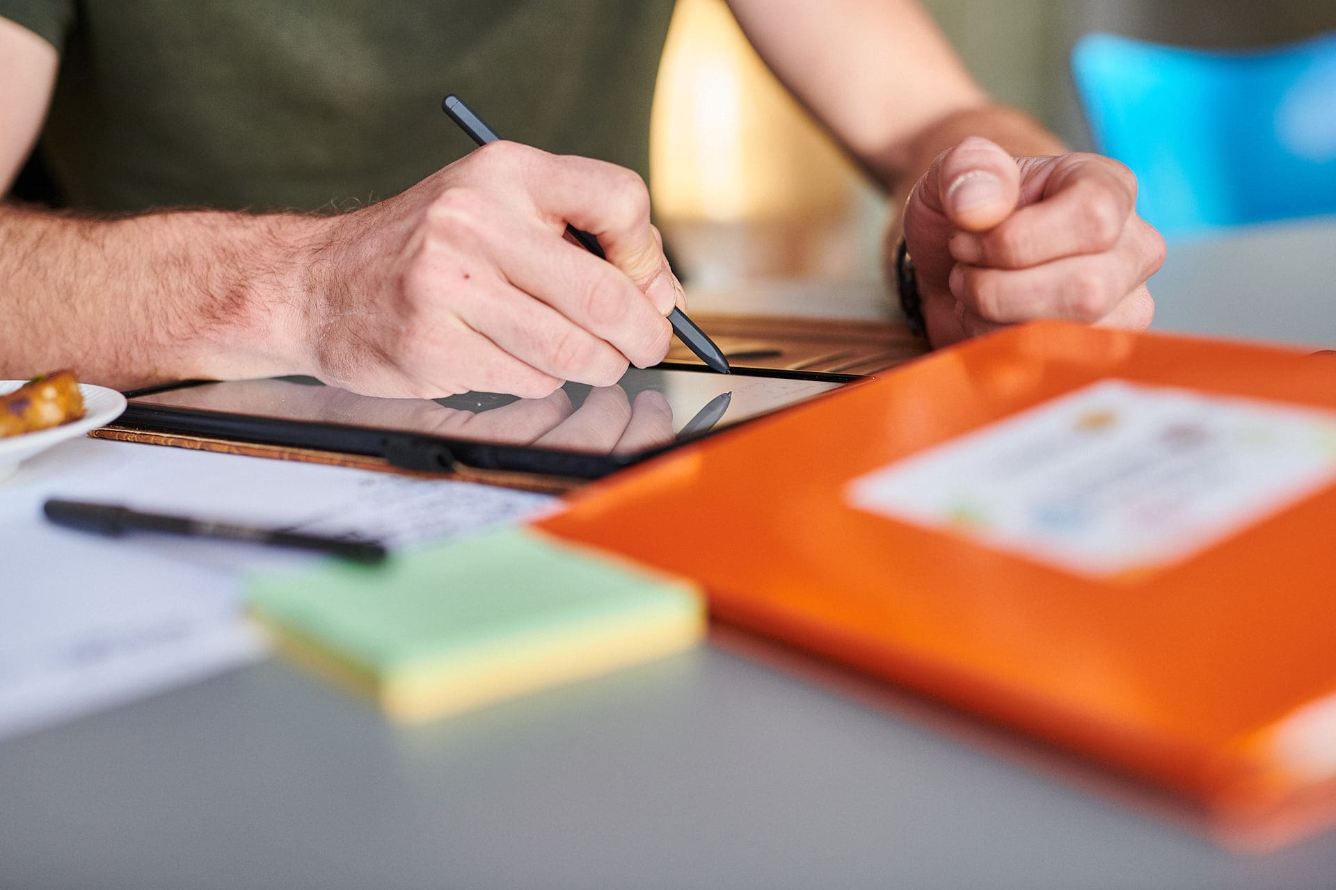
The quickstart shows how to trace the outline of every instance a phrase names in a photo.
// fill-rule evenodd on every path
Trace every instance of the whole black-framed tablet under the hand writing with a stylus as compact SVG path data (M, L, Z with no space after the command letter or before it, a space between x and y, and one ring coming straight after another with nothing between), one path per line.
M859 379L665 363L631 368L611 387L568 383L544 399L378 399L311 378L186 382L128 394L118 426L370 455L407 470L595 479Z

